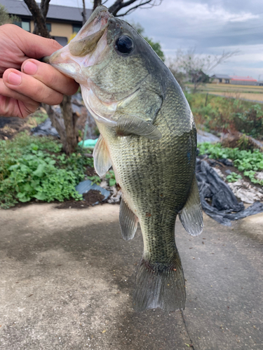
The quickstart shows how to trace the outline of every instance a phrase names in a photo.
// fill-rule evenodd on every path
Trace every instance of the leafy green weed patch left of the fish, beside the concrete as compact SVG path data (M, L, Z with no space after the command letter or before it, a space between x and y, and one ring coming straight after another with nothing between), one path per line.
M52 202L82 198L75 186L93 160L79 153L65 155L62 145L48 137L20 134L0 141L0 207L32 199Z

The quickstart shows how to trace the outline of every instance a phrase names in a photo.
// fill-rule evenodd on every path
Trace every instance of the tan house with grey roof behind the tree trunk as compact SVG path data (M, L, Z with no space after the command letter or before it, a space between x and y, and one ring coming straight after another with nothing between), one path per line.
M22 0L0 0L10 15L16 15L21 22L15 23L27 31L34 30L34 21L27 5ZM79 1L82 3L82 1ZM69 37L74 32L78 32L82 27L83 8L49 5L46 16L46 26L52 36L61 45L67 45ZM92 10L86 10L86 18L90 17Z

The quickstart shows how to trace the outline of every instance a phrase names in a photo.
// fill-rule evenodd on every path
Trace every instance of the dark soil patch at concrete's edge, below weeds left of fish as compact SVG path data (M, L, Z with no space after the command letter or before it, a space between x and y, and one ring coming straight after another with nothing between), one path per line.
M84 193L83 200L68 200L59 204L57 209L84 209L94 204L102 204L104 200L104 195L97 190L89 190L88 193Z

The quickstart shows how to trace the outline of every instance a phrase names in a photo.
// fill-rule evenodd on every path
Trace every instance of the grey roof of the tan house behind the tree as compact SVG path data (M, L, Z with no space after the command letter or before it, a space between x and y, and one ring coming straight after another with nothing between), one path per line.
M32 17L27 5L22 0L1 0L1 5L4 5L8 13L11 15ZM40 5L38 3L38 5ZM70 20L71 22L82 22L81 15L83 8L49 5L47 20ZM92 10L86 9L86 18L90 17Z

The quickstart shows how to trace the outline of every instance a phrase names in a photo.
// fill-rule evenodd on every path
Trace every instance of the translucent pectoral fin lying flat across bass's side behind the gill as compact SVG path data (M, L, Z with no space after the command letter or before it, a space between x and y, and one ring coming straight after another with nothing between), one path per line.
M121 116L117 122L116 134L119 136L135 134L151 140L161 139L161 132L156 126L136 116Z

